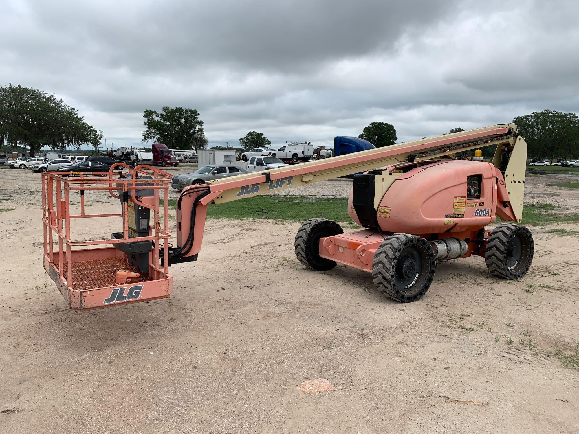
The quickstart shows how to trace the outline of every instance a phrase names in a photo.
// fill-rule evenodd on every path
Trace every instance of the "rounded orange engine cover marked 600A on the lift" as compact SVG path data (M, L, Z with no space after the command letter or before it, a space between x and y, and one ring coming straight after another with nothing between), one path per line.
M413 168L397 176L386 190L376 209L376 222L390 233L481 229L496 219L497 181L504 185L500 171L479 161L438 161ZM351 194L350 216L368 227L356 215L353 198Z

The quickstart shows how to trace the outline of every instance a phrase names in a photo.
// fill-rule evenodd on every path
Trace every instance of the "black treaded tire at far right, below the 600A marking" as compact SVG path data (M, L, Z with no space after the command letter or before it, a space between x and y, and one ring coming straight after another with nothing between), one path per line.
M529 229L521 225L500 225L493 229L486 242L486 267L493 276L520 279L529 271L534 251Z

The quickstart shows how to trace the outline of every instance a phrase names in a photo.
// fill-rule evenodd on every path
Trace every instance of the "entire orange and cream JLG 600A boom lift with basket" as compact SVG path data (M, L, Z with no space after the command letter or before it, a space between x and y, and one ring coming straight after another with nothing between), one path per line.
M454 157L491 145L491 163ZM43 263L77 311L168 297L168 267L197 260L209 204L356 174L348 212L363 229L345 234L336 222L308 220L294 244L305 266L329 270L342 263L368 271L380 292L402 302L427 292L442 260L482 256L491 274L517 279L532 262L532 234L521 225L485 226L496 216L521 223L526 152L516 125L502 124L185 187L175 247L168 241L167 172L119 164L122 170L111 168L104 179L43 173ZM84 195L92 190L119 200L121 214L86 214ZM79 215L70 213L71 191L80 192ZM72 220L104 216L121 217L122 231L72 240Z

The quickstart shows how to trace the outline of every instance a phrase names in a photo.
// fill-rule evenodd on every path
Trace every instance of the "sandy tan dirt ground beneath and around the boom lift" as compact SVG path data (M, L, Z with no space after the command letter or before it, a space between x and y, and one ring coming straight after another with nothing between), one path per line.
M571 177L527 178L527 201L578 212L577 190L549 186ZM40 188L0 168L0 208L14 208L0 212L2 433L579 432L579 371L553 355L579 343L579 239L546 232L579 225L531 227L520 281L478 257L443 262L399 304L368 273L297 263L298 223L210 220L199 260L171 267L170 299L75 313L42 267ZM298 389L312 378L335 391Z

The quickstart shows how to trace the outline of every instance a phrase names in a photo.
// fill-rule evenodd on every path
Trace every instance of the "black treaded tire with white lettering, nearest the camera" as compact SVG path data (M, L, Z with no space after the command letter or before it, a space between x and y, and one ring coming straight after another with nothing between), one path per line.
M420 269L408 285L402 285L399 274L401 260L408 252L420 256ZM436 269L434 253L428 241L411 234L394 234L386 237L376 250L372 261L372 277L376 289L387 297L409 303L420 300L430 288Z

